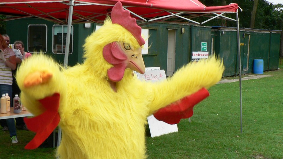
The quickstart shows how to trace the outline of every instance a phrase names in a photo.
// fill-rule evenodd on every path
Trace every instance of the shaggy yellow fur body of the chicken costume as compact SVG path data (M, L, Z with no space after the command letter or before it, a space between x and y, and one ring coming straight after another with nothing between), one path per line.
M141 82L126 69L114 92L106 73L112 65L102 56L103 47L113 41L138 47L126 29L113 25L108 18L86 39L82 65L64 69L49 57L33 55L18 69L22 102L34 115L43 112L39 99L60 93L60 158L146 158L146 117L202 87L212 86L222 77L222 62L212 57L190 63L160 83ZM52 72L53 77L48 83L24 88L24 79L35 71Z

